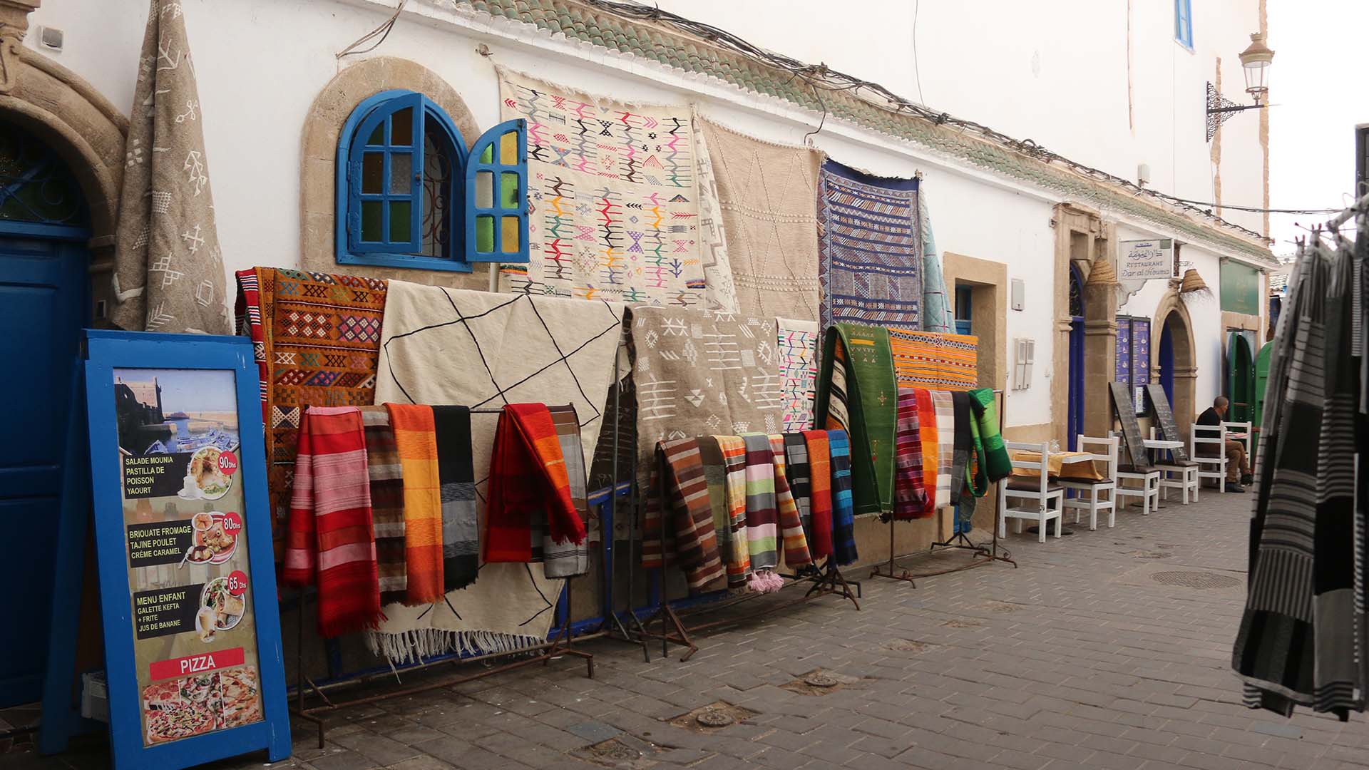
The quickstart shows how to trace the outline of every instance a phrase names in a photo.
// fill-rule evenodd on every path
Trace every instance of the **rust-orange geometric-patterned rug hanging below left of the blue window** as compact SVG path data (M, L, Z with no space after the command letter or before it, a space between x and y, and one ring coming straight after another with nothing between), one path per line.
M277 559L304 407L370 406L386 282L255 267L237 273L240 327L261 375L267 488Z

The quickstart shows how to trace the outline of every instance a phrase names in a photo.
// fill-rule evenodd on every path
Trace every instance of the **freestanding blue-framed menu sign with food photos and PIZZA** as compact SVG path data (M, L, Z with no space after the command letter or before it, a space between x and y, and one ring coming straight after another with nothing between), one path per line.
M114 765L189 767L260 748L285 759L252 345L93 330L86 344Z

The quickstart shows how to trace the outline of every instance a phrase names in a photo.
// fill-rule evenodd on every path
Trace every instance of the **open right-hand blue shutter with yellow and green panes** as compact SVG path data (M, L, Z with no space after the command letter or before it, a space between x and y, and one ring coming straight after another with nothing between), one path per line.
M464 203L467 262L527 262L526 121L505 121L475 141L465 163Z

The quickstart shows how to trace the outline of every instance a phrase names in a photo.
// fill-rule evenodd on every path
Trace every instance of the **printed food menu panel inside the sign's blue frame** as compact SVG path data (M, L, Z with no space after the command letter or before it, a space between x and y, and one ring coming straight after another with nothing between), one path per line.
M142 745L260 722L235 373L112 371Z

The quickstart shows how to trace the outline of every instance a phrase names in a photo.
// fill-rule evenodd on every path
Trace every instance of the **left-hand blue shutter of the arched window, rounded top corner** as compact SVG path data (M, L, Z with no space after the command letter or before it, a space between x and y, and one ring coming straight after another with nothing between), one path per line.
M422 95L411 92L386 99L352 134L348 158L352 252L418 253L423 248L424 101Z

